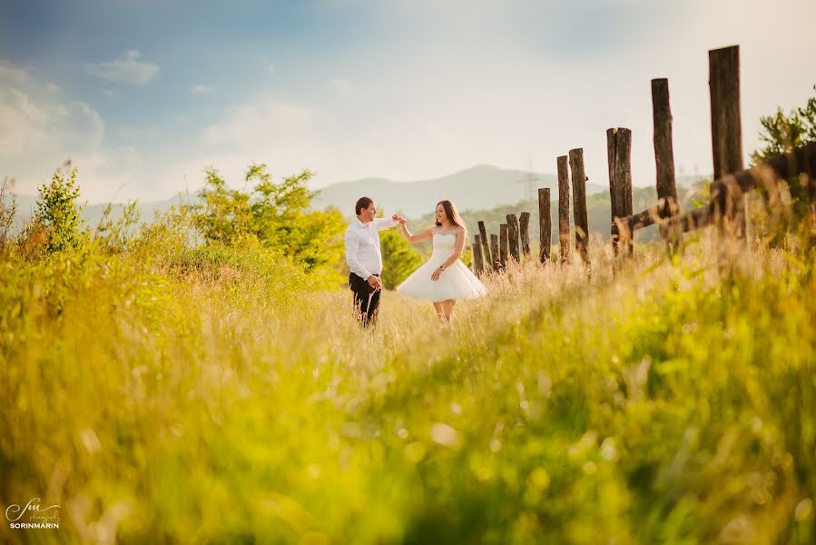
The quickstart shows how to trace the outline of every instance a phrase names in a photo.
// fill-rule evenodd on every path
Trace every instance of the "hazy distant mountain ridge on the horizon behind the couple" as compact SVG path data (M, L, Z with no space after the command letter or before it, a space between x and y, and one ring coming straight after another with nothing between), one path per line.
M459 173L419 182L366 178L335 183L320 190L312 201L312 208L323 210L336 206L343 215L350 216L359 197L368 196L386 213L399 212L411 218L433 212L436 203L443 199L453 201L463 212L486 210L526 199L526 176L537 179L533 183L534 191L539 187L549 187L551 194L557 195L558 179L555 174L526 173L480 164ZM604 185L586 184L587 194L603 191L608 191ZM534 198L537 199L537 196Z

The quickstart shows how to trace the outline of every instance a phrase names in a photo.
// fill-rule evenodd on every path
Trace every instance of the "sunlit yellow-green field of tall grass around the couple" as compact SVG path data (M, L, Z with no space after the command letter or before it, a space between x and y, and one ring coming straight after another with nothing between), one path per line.
M528 263L440 327L247 250L0 260L0 540L812 543L812 256Z

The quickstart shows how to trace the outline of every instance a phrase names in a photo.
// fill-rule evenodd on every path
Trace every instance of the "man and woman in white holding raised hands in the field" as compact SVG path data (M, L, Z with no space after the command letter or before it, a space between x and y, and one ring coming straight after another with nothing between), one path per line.
M369 197L361 197L354 211L357 218L346 229L344 241L354 313L364 326L376 322L382 293L379 232L397 225L410 243L433 241L433 253L428 261L397 286L398 292L432 302L442 323L450 322L457 300L474 299L487 293L485 285L459 260L465 249L467 229L450 201L437 203L436 222L417 234L408 231L405 218L398 214L390 218L376 217L377 205Z

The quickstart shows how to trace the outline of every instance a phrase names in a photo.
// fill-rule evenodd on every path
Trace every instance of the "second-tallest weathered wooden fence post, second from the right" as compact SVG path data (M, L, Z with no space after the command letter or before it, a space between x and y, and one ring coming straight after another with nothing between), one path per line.
M654 163L657 167L658 214L667 218L681 213L677 186L674 182L674 149L672 143L672 107L669 103L669 80L652 80L652 117L654 121ZM661 230L663 232L663 230ZM680 245L680 233L662 233L666 248L675 253Z

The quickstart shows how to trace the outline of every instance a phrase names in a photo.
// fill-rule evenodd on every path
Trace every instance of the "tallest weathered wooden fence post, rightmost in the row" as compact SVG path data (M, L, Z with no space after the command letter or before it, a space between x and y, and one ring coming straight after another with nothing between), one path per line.
M740 115L740 47L732 45L708 52L711 93L714 180L742 171L742 119ZM712 194L714 218L721 233L741 239L745 235L745 206L739 183L723 185Z

